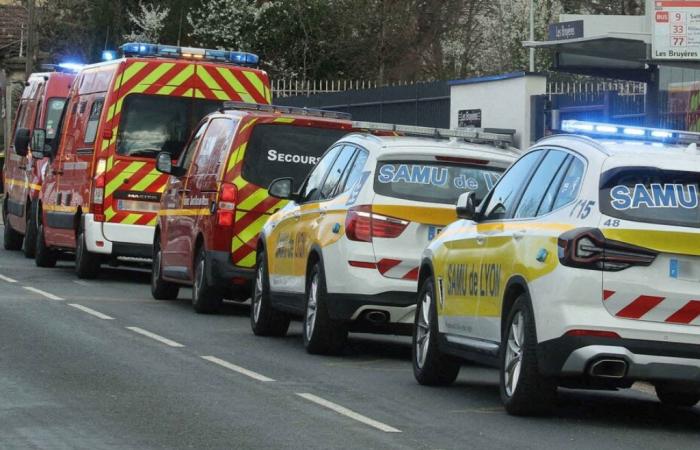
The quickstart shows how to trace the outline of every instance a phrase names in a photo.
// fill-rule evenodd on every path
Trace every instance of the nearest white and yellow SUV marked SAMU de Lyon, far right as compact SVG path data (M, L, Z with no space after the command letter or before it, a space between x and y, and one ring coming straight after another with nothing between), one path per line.
M449 384L459 359L500 367L508 412L557 386L655 385L700 400L700 134L565 122L423 255L413 366ZM690 143L690 145L688 145ZM682 145L679 145L682 144Z

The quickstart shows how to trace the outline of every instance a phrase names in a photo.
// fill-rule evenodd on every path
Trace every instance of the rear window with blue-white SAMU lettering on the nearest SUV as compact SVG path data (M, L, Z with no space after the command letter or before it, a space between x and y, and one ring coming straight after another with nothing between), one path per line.
M683 227L700 227L700 173L624 167L605 172L601 211L611 217Z

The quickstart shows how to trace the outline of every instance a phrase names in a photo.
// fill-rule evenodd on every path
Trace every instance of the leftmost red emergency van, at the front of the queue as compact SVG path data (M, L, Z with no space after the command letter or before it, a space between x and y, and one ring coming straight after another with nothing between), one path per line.
M17 109L13 136L28 137L35 128L42 128L46 130L47 143L50 143L55 137L74 79L73 73L47 72L30 75ZM36 200L41 190L45 164L46 161L34 160L30 152L18 151L14 144L5 155L5 249L23 248L27 257L34 256Z

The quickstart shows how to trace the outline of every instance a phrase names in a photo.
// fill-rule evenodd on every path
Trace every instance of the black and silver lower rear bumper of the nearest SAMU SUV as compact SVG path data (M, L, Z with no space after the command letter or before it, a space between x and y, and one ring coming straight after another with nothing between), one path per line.
M700 386L700 345L639 339L563 336L537 346L540 371L547 376L589 376L601 359L627 364L628 381L677 381Z

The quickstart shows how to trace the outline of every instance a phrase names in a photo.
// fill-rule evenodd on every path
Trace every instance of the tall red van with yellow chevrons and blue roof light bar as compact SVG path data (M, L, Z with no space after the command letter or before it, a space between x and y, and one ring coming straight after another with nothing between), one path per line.
M106 260L151 257L168 181L155 170L159 152L179 159L197 123L225 100L270 102L253 54L140 43L122 50L124 58L78 74L41 191L36 263L53 266L60 252L74 252L82 278Z

